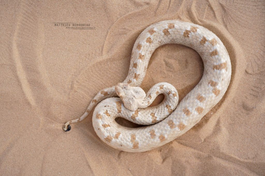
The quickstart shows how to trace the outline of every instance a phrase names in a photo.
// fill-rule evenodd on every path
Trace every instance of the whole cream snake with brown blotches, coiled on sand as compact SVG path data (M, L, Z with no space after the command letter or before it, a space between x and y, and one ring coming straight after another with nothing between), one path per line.
M146 96L143 90L137 87L144 79L154 50L161 45L172 43L196 50L204 63L200 82L177 107L178 93L172 85L157 83ZM137 38L125 81L100 91L86 112L80 118L67 122L64 130L69 129L69 124L82 121L99 103L94 110L92 121L95 132L102 141L128 152L151 150L174 140L198 123L222 99L230 79L231 62L228 52L214 33L189 22L160 21L147 27ZM117 94L121 98L113 98ZM158 94L165 95L162 103L144 108ZM138 128L124 127L115 121L116 117L149 125Z

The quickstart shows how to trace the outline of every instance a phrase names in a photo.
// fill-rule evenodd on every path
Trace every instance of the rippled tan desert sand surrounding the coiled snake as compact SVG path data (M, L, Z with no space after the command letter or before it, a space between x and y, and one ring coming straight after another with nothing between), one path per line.
M264 1L0 4L1 175L265 174ZM126 78L138 35L171 19L204 26L223 41L232 62L223 99L187 133L143 153L103 143L92 114L64 132L63 124L81 116L99 90ZM96 29L72 30L59 22ZM181 100L203 69L193 49L164 45L153 53L141 87L169 82Z

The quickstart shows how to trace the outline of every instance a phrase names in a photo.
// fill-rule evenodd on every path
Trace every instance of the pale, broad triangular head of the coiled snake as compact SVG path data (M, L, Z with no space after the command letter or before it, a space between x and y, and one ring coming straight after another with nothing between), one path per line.
M125 108L131 111L135 111L144 104L146 94L141 87L132 87L129 84L118 83L115 86L115 91L123 101Z

